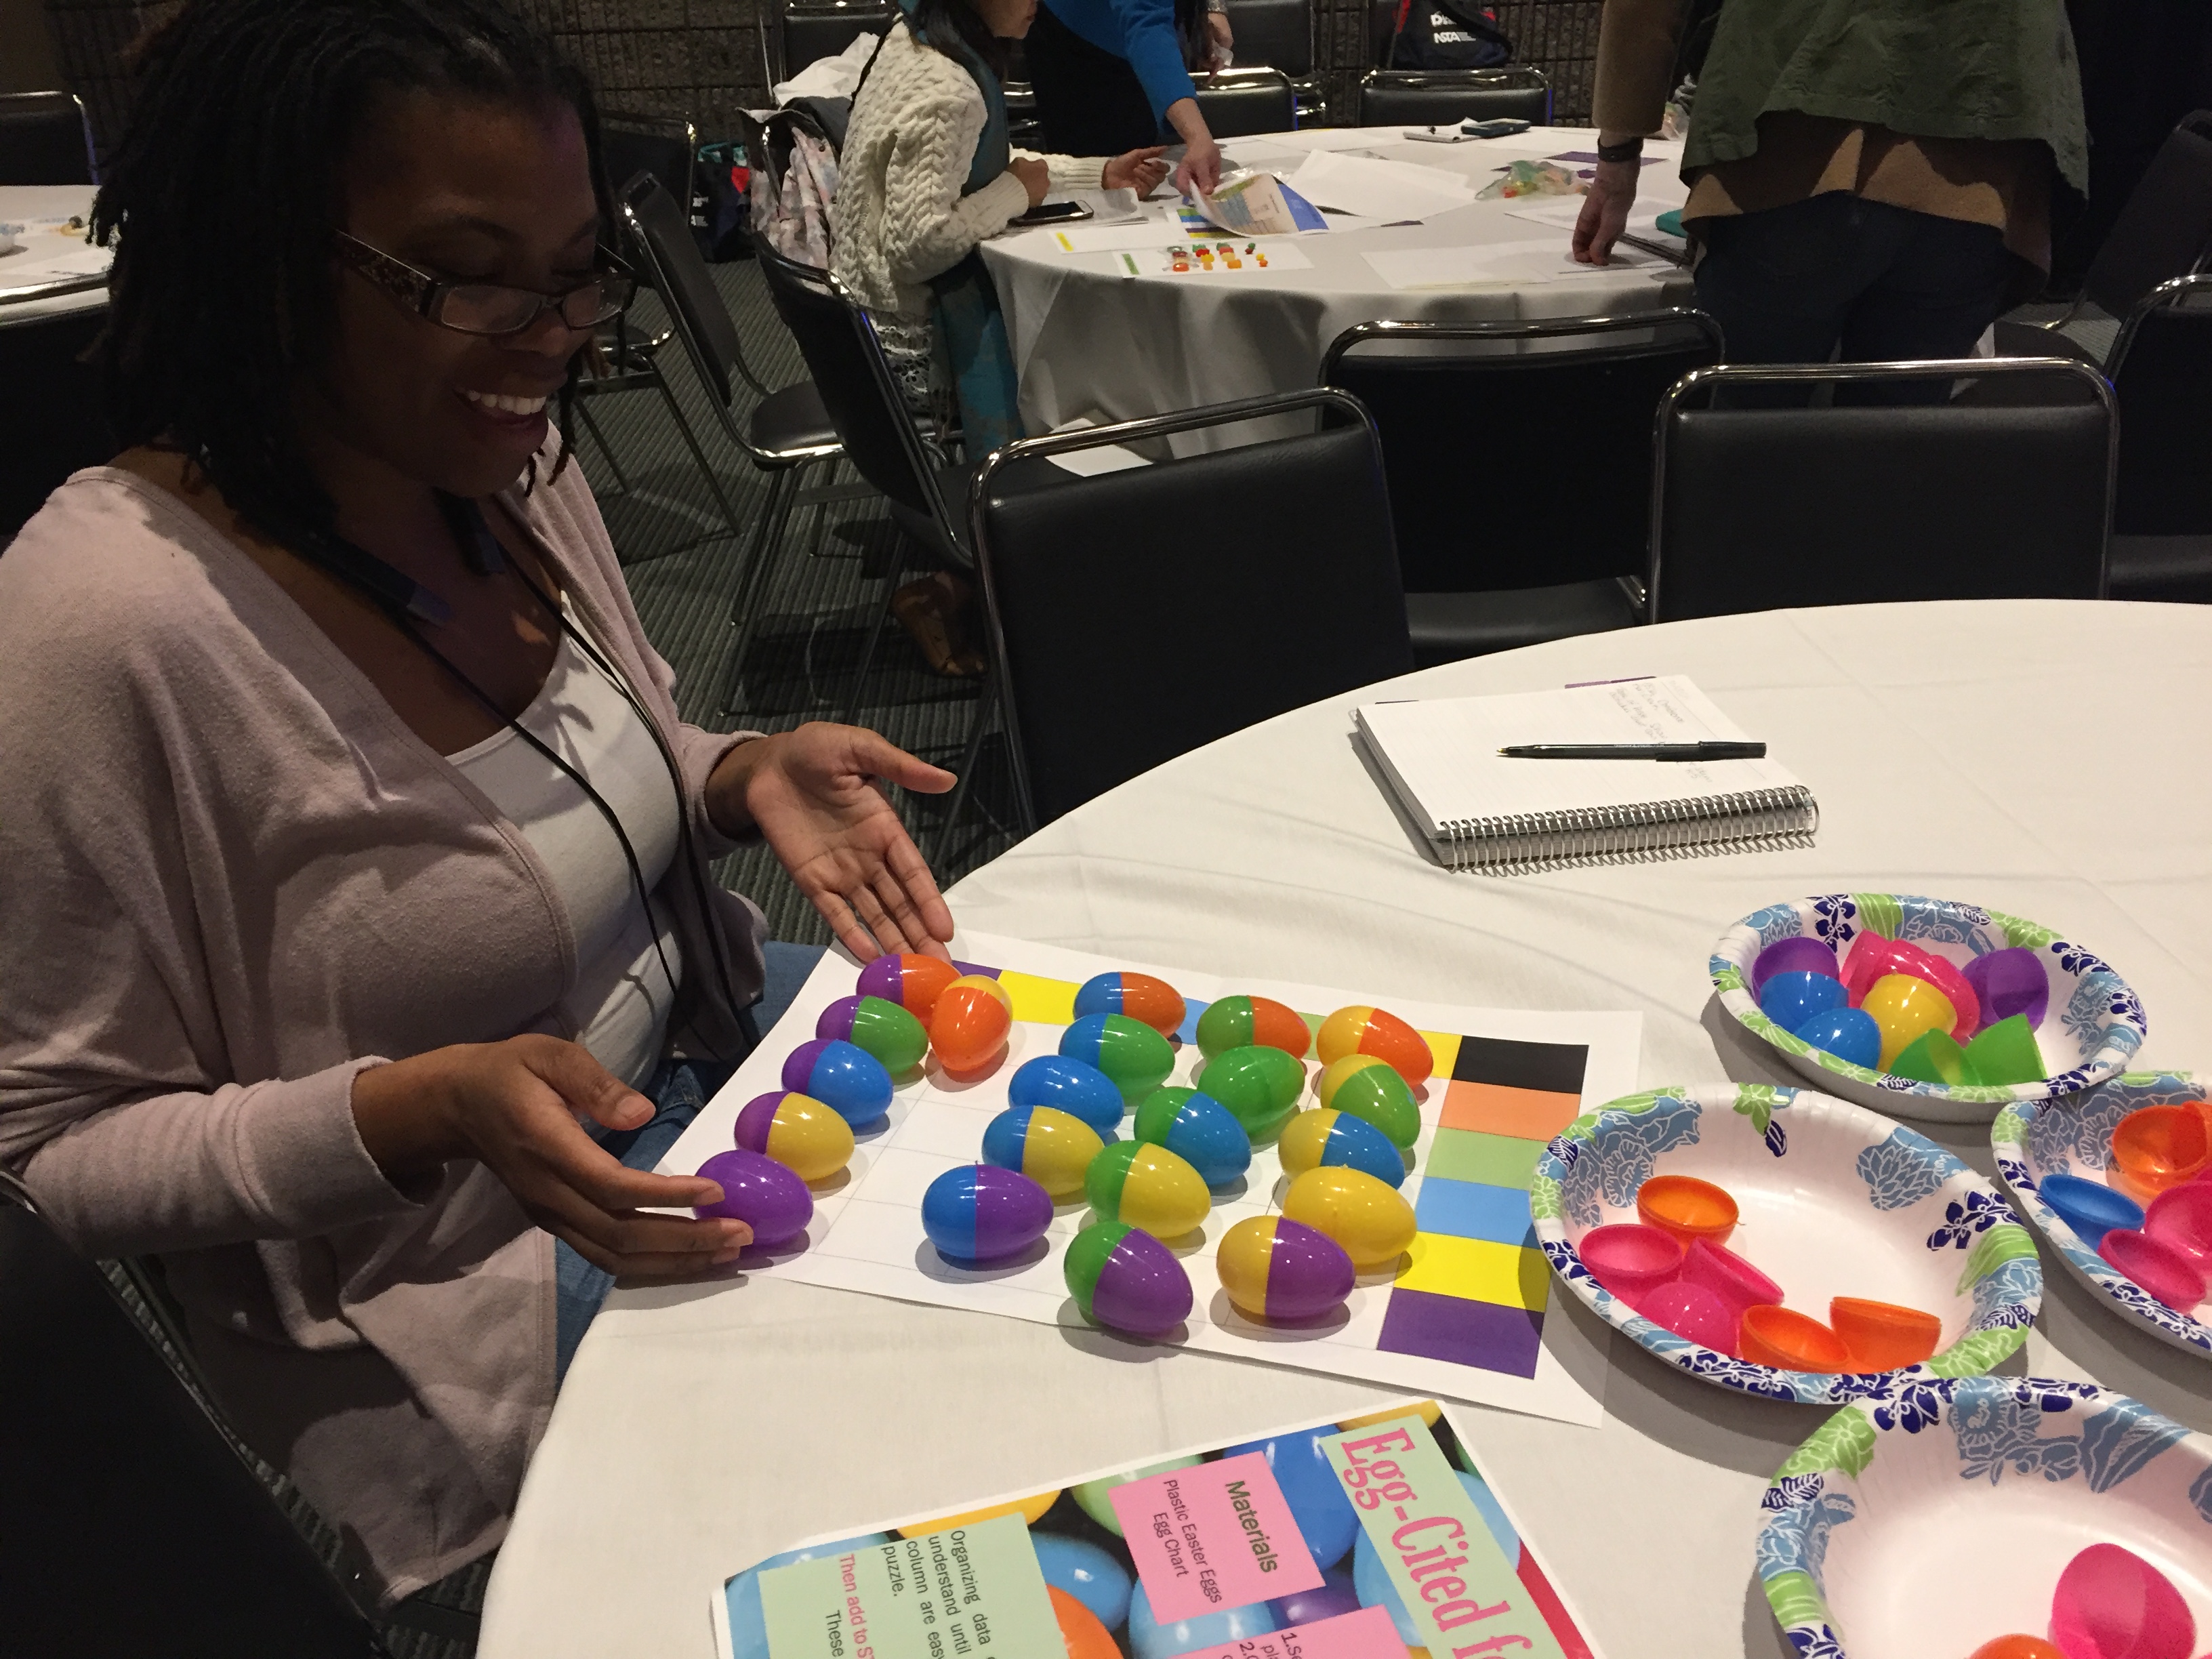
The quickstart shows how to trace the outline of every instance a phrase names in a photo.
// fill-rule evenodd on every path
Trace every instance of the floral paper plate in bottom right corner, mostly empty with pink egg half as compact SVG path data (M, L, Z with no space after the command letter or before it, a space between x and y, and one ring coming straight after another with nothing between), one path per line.
M1767 1484L1759 1582L1805 1659L2042 1637L2088 1544L2157 1566L2212 1632L2212 1449L2126 1394L1971 1376L1854 1400Z

